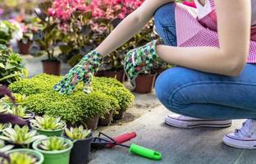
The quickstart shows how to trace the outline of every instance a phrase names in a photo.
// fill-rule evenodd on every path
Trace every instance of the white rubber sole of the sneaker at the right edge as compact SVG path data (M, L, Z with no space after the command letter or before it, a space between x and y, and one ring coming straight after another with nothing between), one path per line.
M256 149L256 139L252 139L252 140L233 139L225 135L223 137L223 143L232 148Z

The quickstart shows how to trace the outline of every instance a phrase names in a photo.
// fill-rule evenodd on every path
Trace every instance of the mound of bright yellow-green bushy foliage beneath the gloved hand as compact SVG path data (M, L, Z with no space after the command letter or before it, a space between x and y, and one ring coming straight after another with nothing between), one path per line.
M94 77L94 92L82 92L82 84L78 84L71 95L53 92L54 84L62 77L41 74L31 79L24 79L10 84L14 93L25 94L22 102L28 110L38 114L61 116L72 124L85 121L93 116L104 116L112 109L126 110L133 102L134 95L119 81L111 78Z

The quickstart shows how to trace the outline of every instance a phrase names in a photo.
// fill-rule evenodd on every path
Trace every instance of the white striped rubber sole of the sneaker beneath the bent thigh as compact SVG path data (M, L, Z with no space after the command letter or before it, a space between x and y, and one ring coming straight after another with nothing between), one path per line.
M166 116L165 123L177 128L198 128L198 127L215 127L215 128L226 128L231 126L231 121L217 121L217 120L178 120Z

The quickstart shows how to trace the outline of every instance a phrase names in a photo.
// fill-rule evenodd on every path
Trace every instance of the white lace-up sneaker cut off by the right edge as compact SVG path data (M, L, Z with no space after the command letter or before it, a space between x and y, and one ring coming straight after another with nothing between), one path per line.
M240 130L226 134L223 137L224 144L234 148L256 148L256 121L248 119Z

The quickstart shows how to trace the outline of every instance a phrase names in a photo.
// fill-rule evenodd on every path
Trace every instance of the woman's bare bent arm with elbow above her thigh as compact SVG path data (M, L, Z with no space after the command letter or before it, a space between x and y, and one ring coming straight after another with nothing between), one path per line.
M251 0L215 0L220 48L158 45L165 62L221 75L239 75L249 54Z

